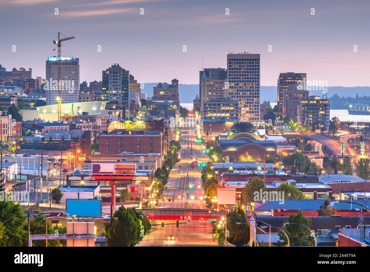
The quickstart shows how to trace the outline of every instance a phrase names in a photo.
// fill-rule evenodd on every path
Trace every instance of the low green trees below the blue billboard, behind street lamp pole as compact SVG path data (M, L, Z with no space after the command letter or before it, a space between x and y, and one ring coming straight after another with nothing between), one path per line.
M47 234L55 233L66 234L67 227L65 226L64 228L53 228L49 220L47 222ZM37 216L30 221L30 234L31 235L46 234L46 216ZM59 239L48 240L47 246L63 246L61 241L62 240ZM66 244L66 240L64 242ZM46 246L46 240L32 240L32 246Z

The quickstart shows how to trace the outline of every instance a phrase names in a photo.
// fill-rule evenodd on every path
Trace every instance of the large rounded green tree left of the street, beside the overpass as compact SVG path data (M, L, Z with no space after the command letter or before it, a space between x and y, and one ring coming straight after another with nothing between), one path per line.
M142 240L145 229L135 208L121 206L112 217L117 219L111 219L104 226L108 246L135 246Z

